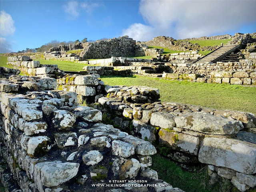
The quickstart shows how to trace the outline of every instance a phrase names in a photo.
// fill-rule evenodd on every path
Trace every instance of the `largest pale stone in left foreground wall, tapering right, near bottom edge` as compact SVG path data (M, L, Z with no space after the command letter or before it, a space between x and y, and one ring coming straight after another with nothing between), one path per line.
M38 163L34 166L35 185L39 191L44 191L43 186L58 186L76 176L78 168L79 163L61 161Z

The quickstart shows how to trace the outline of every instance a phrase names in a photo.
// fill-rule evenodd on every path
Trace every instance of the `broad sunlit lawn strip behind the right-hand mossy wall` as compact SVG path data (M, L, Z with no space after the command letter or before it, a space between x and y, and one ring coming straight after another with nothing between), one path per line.
M146 76L134 76L133 78L102 76L102 80L107 85L136 85L158 88L161 101L181 102L256 114L255 87L163 80Z

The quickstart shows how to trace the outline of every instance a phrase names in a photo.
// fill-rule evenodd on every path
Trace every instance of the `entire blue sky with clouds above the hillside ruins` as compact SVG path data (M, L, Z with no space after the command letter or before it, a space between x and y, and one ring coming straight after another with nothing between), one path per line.
M256 32L256 1L1 0L1 52L51 40L175 39ZM220 12L222 14L220 14Z

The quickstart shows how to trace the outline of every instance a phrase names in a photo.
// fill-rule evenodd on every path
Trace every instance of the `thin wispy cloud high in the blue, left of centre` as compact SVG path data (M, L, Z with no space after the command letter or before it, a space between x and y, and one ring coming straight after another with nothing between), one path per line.
M99 6L100 4L98 3L69 1L67 4L63 5L62 8L68 14L70 19L75 19L79 16L81 11L90 14Z

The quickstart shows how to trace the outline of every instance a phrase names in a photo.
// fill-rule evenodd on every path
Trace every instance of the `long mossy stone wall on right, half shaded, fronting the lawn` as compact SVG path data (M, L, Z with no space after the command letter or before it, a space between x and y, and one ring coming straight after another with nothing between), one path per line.
M158 102L143 97L150 90L158 94L145 87L106 86L105 90L107 97L95 105L104 112L104 122L150 141L176 162L208 164L211 185L222 177L240 191L255 186L256 134L247 132L256 133L255 114Z

